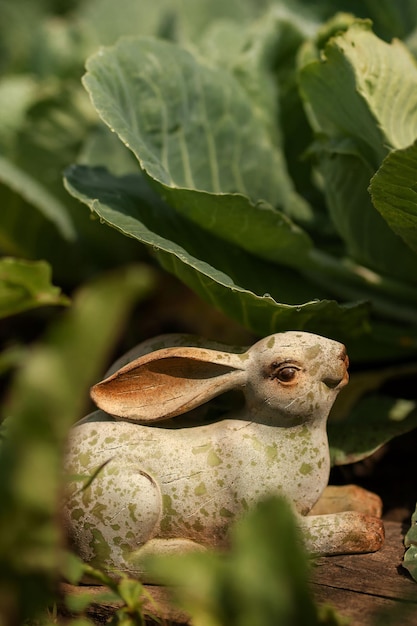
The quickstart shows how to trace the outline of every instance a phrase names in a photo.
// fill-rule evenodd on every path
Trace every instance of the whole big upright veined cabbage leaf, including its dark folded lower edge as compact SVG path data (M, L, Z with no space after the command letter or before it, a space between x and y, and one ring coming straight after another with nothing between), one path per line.
M97 111L171 206L263 258L299 261L309 247L307 235L258 203L289 214L303 211L305 203L233 76L178 46L146 38L102 50L87 70L84 84ZM291 259L288 250L294 250Z

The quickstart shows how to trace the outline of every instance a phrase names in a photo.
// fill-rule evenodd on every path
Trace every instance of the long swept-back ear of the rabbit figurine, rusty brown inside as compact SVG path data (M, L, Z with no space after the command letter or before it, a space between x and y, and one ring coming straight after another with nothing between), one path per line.
M91 397L115 417L134 422L168 419L245 384L247 355L171 347L128 363L95 385Z

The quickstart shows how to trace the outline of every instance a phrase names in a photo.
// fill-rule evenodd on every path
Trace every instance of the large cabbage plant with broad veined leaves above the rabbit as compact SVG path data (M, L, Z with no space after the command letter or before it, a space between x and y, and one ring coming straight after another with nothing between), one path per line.
M403 43L273 7L246 29L213 22L198 45L122 38L89 58L84 85L136 157L124 175L67 172L103 222L256 334L330 335L356 362L415 356L417 68Z

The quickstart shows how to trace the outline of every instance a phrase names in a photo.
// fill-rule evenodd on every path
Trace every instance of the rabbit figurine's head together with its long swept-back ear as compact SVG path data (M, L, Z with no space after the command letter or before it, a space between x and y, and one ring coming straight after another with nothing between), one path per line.
M95 385L91 395L107 413L147 423L242 389L247 403L243 417L285 426L326 419L347 380L342 344L290 331L240 353L174 345L142 354Z

